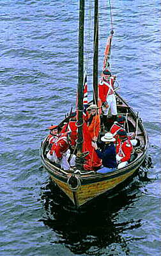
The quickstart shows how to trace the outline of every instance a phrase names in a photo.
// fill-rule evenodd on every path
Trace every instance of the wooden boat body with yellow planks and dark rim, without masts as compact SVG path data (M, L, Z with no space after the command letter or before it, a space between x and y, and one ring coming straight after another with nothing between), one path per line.
M76 207L80 207L89 200L96 198L96 196L117 188L119 184L125 182L125 180L134 175L146 158L148 136L142 125L141 118L138 118L134 110L130 108L127 102L125 102L125 100L118 94L117 99L119 114L126 115L126 113L128 113L129 132L134 132L138 124L137 140L139 141L139 145L134 147L134 160L125 166L125 168L120 168L107 174L78 172L77 170L61 170L53 163L50 163L45 156L47 138L42 142L41 157L43 166L49 172L52 180L54 180L57 186L64 191ZM67 121L68 117L65 118L63 122ZM63 122L61 124L63 124Z

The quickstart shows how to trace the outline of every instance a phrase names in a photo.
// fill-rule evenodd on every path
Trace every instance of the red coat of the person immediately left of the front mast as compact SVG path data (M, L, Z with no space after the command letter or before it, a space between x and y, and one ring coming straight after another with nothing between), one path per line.
M71 132L70 138L71 138L71 146L76 145L77 140L77 126L76 126L77 120L71 120L68 124L65 124L63 126L63 129L61 130L61 133L64 133L65 130L68 132ZM68 125L68 128L66 129L66 126Z

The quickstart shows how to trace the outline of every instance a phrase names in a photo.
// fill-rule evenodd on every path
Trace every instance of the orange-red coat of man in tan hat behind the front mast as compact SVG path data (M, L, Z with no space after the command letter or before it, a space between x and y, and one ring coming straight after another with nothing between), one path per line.
M84 118L84 120L86 121L86 124L88 125L88 131L89 134L91 135L91 138L93 139L93 137L98 137L98 134L100 132L100 116L99 115L95 115L93 116L92 122L91 124L89 124L88 120L89 117L91 115L89 113L86 113L86 117Z

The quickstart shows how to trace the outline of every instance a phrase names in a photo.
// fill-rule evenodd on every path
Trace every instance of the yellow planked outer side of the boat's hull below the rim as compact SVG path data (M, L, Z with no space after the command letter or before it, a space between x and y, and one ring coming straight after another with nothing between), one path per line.
M86 204L93 198L99 195L111 191L116 188L122 182L125 182L129 177L132 177L134 173L138 170L144 161L146 154L143 154L135 163L130 164L127 168L118 169L115 172L108 174L98 175L95 174L93 177L91 175L79 175L74 174L74 178L77 180L77 188L72 188L68 184L68 180L73 177L73 173L68 173L67 175L57 175L57 170L51 170L46 165L46 170L49 172L51 179L59 186L59 188L70 198L76 207L80 207Z

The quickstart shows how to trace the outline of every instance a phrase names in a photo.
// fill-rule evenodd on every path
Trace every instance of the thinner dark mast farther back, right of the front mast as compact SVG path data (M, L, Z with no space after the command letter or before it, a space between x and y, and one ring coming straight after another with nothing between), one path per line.
M94 19L94 56L93 56L93 102L98 102L98 0L95 0Z

